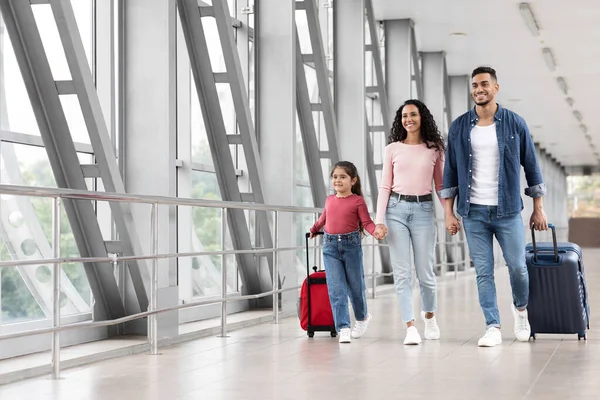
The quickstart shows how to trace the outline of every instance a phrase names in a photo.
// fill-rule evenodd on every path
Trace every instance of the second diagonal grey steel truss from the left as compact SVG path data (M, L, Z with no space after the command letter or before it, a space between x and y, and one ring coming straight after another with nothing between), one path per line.
M221 191L221 198L227 201L242 201L242 193L238 187L235 175L235 166L229 148L227 131L217 93L214 71L210 63L208 45L198 3L197 0L177 0L177 6L190 57L192 74L196 83L198 100L207 128L207 137ZM258 146L250 116L248 96L243 86L244 81L241 74L239 56L235 48L231 27L227 23L229 10L227 9L227 3L221 0L214 0L212 7L225 57L254 201L263 203L264 197L259 175L261 173L261 166L258 156ZM263 238L263 245L271 247L272 239L266 214L257 212L256 218ZM236 250L251 249L252 241L244 212L242 210L230 210L227 213L227 220L233 248ZM270 266L272 266L272 257L268 258L268 260L270 261ZM258 266L254 256L250 254L238 255L237 261L240 276L244 284L244 291L246 293L257 293L261 289L264 289L261 287Z

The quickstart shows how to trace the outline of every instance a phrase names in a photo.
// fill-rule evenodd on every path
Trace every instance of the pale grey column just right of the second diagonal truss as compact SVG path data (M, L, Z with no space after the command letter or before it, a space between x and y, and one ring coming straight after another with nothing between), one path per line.
M263 190L268 204L293 205L296 141L296 28L295 2L261 0L257 3L257 132L262 160ZM269 219L272 221L273 213ZM279 214L279 246L296 245L294 218ZM273 228L272 231L274 232ZM274 242L275 242L275 238ZM278 254L279 279L286 286L298 282L295 253ZM266 260L261 271L266 269ZM269 277L268 273L261 276ZM282 307L295 307L296 293L282 294Z

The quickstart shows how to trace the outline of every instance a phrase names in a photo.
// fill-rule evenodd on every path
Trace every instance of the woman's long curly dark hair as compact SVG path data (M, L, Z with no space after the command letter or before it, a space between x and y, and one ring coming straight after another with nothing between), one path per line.
M406 100L404 104L400 106L398 111L396 111L396 117L392 124L390 136L388 137L388 144L406 140L408 133L406 132L406 129L404 129L404 126L402 126L402 110L409 104L412 104L419 109L419 114L421 115L421 139L427 145L427 148L435 148L440 153L444 153L446 151L446 144L433 119L433 115L431 115L431 112L422 101L415 99Z

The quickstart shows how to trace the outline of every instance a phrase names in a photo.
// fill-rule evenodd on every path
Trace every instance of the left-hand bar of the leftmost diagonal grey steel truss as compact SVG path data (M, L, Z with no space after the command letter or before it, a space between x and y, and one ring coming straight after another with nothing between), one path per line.
M87 190L58 90L29 2L0 0L23 81L56 182L59 187ZM91 201L66 200L65 210L82 257L104 257L106 247ZM102 317L118 318L125 309L108 263L84 264ZM100 315L98 315L100 316Z

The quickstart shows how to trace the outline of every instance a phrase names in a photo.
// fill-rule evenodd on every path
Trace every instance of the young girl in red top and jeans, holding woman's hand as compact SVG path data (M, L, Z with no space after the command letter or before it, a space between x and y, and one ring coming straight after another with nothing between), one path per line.
M314 237L325 227L323 262L333 319L340 333L340 343L350 343L352 337L359 338L365 333L371 320L367 313L361 234L366 229L373 235L375 224L362 197L360 178L354 164L348 161L335 164L331 180L335 194L325 200L323 214L310 233ZM356 318L352 333L348 296Z

